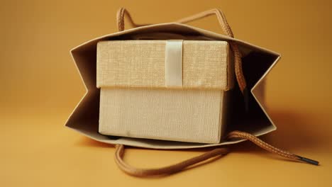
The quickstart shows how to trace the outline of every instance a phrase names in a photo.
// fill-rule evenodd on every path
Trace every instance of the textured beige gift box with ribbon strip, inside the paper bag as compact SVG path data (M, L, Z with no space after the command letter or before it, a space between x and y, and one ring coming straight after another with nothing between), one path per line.
M103 41L96 57L101 134L220 142L233 86L228 42Z

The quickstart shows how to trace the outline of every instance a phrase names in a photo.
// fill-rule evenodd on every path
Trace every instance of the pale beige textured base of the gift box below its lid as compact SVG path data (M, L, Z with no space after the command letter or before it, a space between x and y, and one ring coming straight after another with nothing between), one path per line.
M218 143L224 91L101 88L103 135Z

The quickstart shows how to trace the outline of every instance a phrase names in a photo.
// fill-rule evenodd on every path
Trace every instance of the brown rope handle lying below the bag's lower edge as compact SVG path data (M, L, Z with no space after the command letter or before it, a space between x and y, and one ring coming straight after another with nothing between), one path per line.
M273 147L272 145L267 144L266 142L260 140L258 137L255 137L254 135L250 135L247 132L240 132L240 131L230 132L227 136L227 139L232 139L232 138L243 138L246 140L250 140L250 142L253 142L253 143L255 143L255 145L262 147L262 149L265 149L268 152L278 154L281 157L285 157L287 159L297 160L300 162L306 162L309 164L314 164L316 166L319 165L319 162L317 162L317 161L314 161L312 159L307 159L304 157L300 157L296 154L292 154L292 153L284 151L282 149L278 149L277 147ZM124 145L116 145L116 152L115 152L116 164L126 174L129 174L131 176L139 176L139 177L165 176L165 175L169 175L169 174L175 174L179 171L182 171L183 169L188 168L189 166L198 164L199 162L204 162L207 159L211 159L214 157L216 159L218 159L221 156L228 153L228 149L226 149L226 148L216 148L209 152L201 154L197 157L193 157L191 159L187 159L187 160L184 160L182 162L179 162L177 164L173 164L170 166L165 166L165 167L160 167L160 168L155 168L155 169L140 169L140 168L135 168L133 166L130 166L123 160L124 149L125 149Z

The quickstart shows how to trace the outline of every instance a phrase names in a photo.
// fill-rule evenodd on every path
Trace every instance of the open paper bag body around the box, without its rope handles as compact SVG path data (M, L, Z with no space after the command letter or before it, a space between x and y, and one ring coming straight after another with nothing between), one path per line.
M162 34L160 34L162 33ZM178 38L177 36L183 38ZM165 37L167 36L167 37ZM100 38L95 38L82 45L74 47L71 50L72 58L77 65L80 76L87 93L78 103L74 111L68 118L65 125L68 128L76 130L94 140L105 142L113 145L128 145L134 147L146 147L152 149L189 149L199 147L215 147L220 145L234 144L243 140L226 140L221 137L221 142L216 144L202 144L195 142L179 142L179 141L165 141L152 140L133 137L117 137L101 135L99 133L99 108L100 108L100 89L96 86L96 52L97 44L101 41L110 40L214 40L214 41L230 41L236 42L239 47L242 60L243 72L248 83L248 90L250 91L249 112L244 113L240 108L243 108L243 103L238 103L233 107L233 122L228 123L223 132L231 132L232 130L240 130L249 132L252 135L260 136L276 129L273 124L266 103L264 101L265 79L272 67L275 66L280 55L277 52L272 52L262 47L252 45L248 42L231 38L226 35L213 33L208 30L188 26L182 23L160 23L150 26L140 26L123 30L121 32L104 35ZM233 89L236 101L241 101L240 94L236 89L238 86L234 85ZM237 99L238 98L238 99Z

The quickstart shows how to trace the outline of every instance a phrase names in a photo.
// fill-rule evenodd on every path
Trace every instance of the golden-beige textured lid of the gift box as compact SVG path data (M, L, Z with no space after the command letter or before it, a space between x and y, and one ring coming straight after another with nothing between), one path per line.
M167 42L170 40L99 42L96 86L221 90L232 88L234 71L228 42L181 40L180 60L175 62L179 64L179 71L175 70L179 72L180 86L167 84L167 74L170 74L170 71L167 72L167 62L174 63L167 61L167 55L174 56L172 53L167 54ZM172 60L174 61L174 57Z

